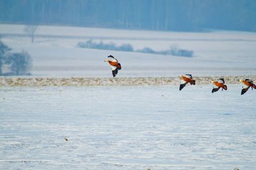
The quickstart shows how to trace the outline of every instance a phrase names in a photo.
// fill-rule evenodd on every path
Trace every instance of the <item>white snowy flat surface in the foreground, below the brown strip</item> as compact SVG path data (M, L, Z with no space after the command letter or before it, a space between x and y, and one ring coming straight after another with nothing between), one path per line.
M256 92L211 88L2 87L0 169L256 169Z

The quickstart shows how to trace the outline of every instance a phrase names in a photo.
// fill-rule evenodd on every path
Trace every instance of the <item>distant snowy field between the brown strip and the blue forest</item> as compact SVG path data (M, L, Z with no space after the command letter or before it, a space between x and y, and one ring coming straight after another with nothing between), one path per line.
M110 54L122 63L118 77L177 77L183 73L195 76L256 75L256 33L179 33L39 26L35 43L31 43L23 30L22 25L0 24L4 43L14 51L27 50L31 54L31 73L36 77L111 77L111 69L104 63ZM144 47L166 50L177 45L180 49L193 50L195 57L76 47L78 42L89 39L117 45L130 43L135 50Z

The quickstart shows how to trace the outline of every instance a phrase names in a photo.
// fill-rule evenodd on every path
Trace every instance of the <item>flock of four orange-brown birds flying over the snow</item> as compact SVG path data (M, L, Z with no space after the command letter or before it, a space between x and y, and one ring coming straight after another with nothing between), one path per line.
M115 59L113 56L108 56L108 59L106 59L105 61L108 62L109 65L111 66L113 77L116 77L118 70L121 70L122 68L121 64L118 63L118 60ZM180 84L180 90L182 90L188 83L191 85L196 84L196 81L193 79L191 74L179 75L179 77L180 77L180 80L184 82ZM239 81L243 82L243 84L246 86L246 88L243 87L241 91L241 95L246 93L246 91L248 91L248 89L250 88L252 88L252 90L253 88L256 89L256 85L253 84L253 81L250 79L243 79ZM212 88L212 93L218 91L220 88L221 88L221 91L223 91L223 89L227 90L227 85L225 85L225 81L223 78L220 78L217 81L212 81L211 83L216 86Z

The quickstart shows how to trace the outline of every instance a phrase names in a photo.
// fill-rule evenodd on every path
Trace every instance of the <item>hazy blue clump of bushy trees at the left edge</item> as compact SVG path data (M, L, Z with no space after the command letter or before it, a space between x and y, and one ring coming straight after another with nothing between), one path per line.
M32 59L28 52L12 52L0 40L0 75L29 75L31 66Z

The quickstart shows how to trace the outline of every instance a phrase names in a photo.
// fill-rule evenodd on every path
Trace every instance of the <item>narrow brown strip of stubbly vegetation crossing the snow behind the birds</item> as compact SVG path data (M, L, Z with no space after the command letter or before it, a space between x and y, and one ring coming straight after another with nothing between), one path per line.
M194 77L196 84L210 84L220 77ZM256 75L224 76L226 84L237 84L239 79L256 80ZM0 77L0 86L164 86L180 84L179 77L116 77L116 78L47 78Z

